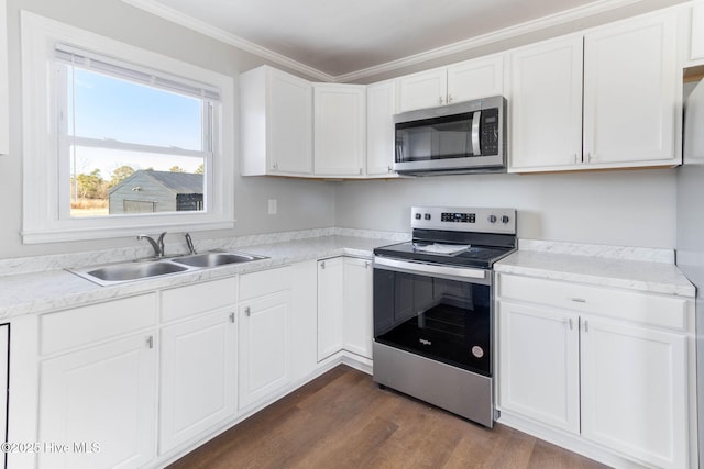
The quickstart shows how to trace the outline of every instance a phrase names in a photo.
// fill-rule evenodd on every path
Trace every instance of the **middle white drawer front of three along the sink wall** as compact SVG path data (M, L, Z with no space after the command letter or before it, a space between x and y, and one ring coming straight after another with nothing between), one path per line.
M162 321L234 305L237 299L235 277L166 290L162 292Z

